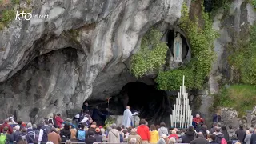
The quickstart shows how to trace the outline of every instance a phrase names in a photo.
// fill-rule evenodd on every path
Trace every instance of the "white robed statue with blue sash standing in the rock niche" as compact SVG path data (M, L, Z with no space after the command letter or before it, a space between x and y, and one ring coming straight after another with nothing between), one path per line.
M182 38L179 33L174 38L174 62L182 62Z

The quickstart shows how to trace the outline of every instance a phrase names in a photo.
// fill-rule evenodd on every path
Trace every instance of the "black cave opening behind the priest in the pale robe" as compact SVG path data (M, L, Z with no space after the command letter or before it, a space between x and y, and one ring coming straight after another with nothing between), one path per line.
M122 115L126 106L130 106L132 113L138 111L140 118L145 118L149 124L160 122L170 123L170 111L173 109L174 97L170 92L158 90L156 85L144 82L128 82L122 87L119 94L110 99L110 113ZM107 102L86 101L90 106L98 106L104 111L108 106Z

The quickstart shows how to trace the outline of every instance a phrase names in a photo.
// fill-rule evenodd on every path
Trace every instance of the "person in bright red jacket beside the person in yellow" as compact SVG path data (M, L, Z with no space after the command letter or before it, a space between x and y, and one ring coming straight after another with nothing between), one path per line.
M140 126L138 126L137 129L137 134L141 136L143 144L150 143L150 129L146 126L145 119L141 120Z

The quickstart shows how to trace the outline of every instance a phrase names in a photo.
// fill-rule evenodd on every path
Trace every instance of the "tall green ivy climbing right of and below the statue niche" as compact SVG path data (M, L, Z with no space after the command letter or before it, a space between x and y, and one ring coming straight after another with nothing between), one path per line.
M186 82L188 89L202 89L214 61L214 40L218 38L218 34L212 29L213 22L208 14L202 12L202 27L198 25L198 18L196 19L196 22L190 20L188 8L183 4L180 27L189 39L192 59L185 68L159 74L156 82L160 90L178 90L182 85L182 74L189 80Z

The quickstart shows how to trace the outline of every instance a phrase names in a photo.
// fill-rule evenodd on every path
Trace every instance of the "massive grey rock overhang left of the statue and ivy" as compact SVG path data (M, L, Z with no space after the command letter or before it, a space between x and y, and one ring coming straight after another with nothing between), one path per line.
M157 22L174 25L182 2L21 2L49 18L14 20L0 31L0 117L16 113L28 122L118 93L134 81L126 62L142 35Z

